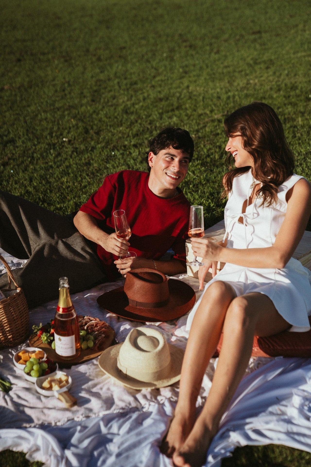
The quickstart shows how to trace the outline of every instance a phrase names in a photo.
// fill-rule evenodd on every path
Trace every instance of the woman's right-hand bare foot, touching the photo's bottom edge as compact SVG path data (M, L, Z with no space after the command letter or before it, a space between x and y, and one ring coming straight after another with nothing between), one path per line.
M207 450L216 430L207 427L202 417L194 424L180 450L173 454L173 462L178 467L201 467L206 462Z

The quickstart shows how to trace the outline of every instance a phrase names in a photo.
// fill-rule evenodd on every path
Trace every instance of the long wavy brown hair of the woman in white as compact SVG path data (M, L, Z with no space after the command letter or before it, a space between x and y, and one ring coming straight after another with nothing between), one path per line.
M262 205L270 206L277 201L278 187L294 172L294 155L284 135L281 120L272 107L263 102L252 102L231 113L224 121L228 137L240 134L243 148L254 160L253 175L262 186L257 197ZM250 167L232 169L233 156L226 157L229 172L223 177L222 198L232 190L234 177L247 172Z

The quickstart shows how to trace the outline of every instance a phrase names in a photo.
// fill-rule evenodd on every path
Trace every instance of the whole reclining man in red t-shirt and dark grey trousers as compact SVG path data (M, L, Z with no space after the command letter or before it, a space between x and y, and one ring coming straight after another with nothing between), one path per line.
M0 248L28 259L23 268L14 270L28 306L56 298L61 276L69 278L70 291L76 293L137 267L169 275L185 271L189 203L178 185L186 177L193 152L186 130L164 128L150 140L150 175L124 170L106 177L76 214L75 225L70 216L0 191ZM115 209L126 212L130 242L117 239ZM137 258L121 262L118 256L130 245ZM169 248L174 250L173 259L158 261ZM5 288L6 274L0 277L0 289Z

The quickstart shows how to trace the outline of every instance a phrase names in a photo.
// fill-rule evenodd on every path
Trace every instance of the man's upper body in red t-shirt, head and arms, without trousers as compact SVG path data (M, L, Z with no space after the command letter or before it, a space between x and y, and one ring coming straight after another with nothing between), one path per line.
M181 128L164 128L149 142L150 174L124 170L105 178L104 184L74 218L76 228L97 244L109 280L117 269L126 274L134 268L159 269L173 275L186 270L185 240L189 202L178 188L187 174L194 143ZM129 241L118 239L113 212L123 209L131 227ZM117 259L128 248L137 254L129 262ZM157 261L173 248L170 261ZM116 264L117 268L112 265Z

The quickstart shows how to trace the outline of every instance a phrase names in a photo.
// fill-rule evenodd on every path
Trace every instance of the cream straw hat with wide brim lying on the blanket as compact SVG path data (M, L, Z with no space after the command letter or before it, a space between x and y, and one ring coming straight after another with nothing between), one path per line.
M184 351L168 344L157 329L137 327L123 344L104 350L98 365L124 386L154 389L180 380L183 357Z

